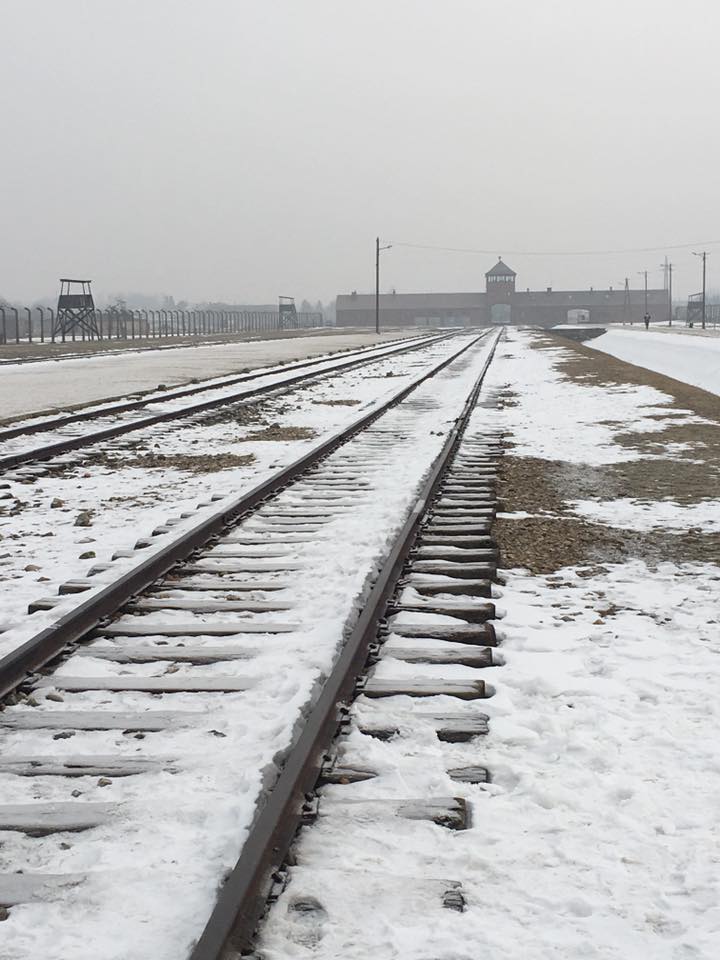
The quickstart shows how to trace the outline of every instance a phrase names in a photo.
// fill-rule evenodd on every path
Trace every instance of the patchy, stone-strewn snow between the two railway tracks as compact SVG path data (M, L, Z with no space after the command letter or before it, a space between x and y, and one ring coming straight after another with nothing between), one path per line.
M254 430L264 424L255 426L252 422L177 421L131 434L130 442L138 446L125 454L127 463L85 465L83 452L78 451L78 467L63 475L48 474L33 484L11 483L11 492L21 507L12 512L14 501L0 501L0 508L11 508L5 515L0 509L0 580L5 581L0 626L6 628L0 634L0 655L76 604L78 596L62 598L54 613L27 617L30 602L56 595L59 584L82 579L90 567L107 562L116 550L132 550L138 537L149 536L171 515L191 513L190 519L174 527L169 535L174 537L183 527L197 522L199 502L211 494L230 497L251 489L312 445L382 404L389 395L459 350L467 339L437 343L314 384L301 384L277 400L262 400L259 410L265 414L266 423L307 428L316 433L312 439L253 440ZM358 403L345 406L338 403L342 400ZM121 437L102 448L122 451L128 442ZM143 454L155 450L169 457L252 454L255 460L227 469L213 470L210 465L208 472L198 473L161 463L144 468ZM92 511L90 525L76 526L80 514L88 510ZM158 547L166 542L162 537L156 540ZM83 559L87 553L91 556ZM98 584L115 578L121 567L145 556L147 552L135 560L116 561L113 570L97 578ZM9 629L13 625L15 629Z

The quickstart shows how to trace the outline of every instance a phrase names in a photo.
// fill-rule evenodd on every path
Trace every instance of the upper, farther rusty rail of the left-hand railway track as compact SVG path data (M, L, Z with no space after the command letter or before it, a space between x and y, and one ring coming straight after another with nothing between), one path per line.
M405 345L398 345L397 341L391 341L391 343L387 344L388 349L383 352L380 352L382 351L382 344L375 344L372 347L362 347L359 350L349 351L345 354L345 356L357 357L359 359L366 358L368 362L370 362L370 359L372 358L371 351L375 350L379 351L377 359L382 360L385 357L395 356L396 353L409 353L412 350L420 350L424 347L430 346L433 343L439 343L441 340L446 340L448 337L453 335L454 334L445 334L441 336L427 337L421 342L417 342L415 338L413 338L411 343ZM320 363L329 363L333 359L333 355L331 354L329 356L319 356L309 360L299 360L296 363L283 364L281 370L263 368L264 372L256 371L255 373L238 374L235 377L229 377L222 383L196 384L192 387L185 387L182 390L173 390L171 392L164 393L162 396L140 397L136 400L125 400L121 403L114 403L105 407L93 406L93 408L90 410L78 410L76 413L68 413L60 417L49 418L37 423L28 423L25 426L8 427L6 430L0 430L0 443L3 443L5 440L13 440L15 437L22 437L33 433L44 433L48 430L56 430L58 427L66 427L71 423L99 420L102 417L112 416L112 414L115 413L127 413L128 410L140 410L142 407L151 406L153 403L166 403L168 400L181 400L183 397L195 396L198 393L205 393L209 390L222 390L224 387L232 387L237 383L249 383L253 380L260 380L263 377L271 377L275 373L286 373L289 370L301 370L304 367L316 366ZM336 370L339 368L333 367L332 369ZM2 459L0 459L0 465L1 464Z

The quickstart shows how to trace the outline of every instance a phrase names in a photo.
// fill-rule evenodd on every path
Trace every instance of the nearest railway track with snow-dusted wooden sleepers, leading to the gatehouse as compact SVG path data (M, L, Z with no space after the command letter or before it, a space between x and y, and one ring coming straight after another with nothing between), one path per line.
M168 943L197 936L225 873L193 958L235 955L250 943L270 876L312 812L303 813L303 795L318 779L338 703L351 694L368 652L378 664L389 658L475 670L492 662L494 610L477 598L489 597L497 562L489 525L498 439L468 424L496 342L465 345L118 579L69 585L89 591L87 598L0 661L8 698L0 777L10 798L0 806L8 838L0 904L26 951L14 955L66 955L73 923L78 943L92 943L95 957L177 955ZM421 483L376 578L378 545L382 553L393 524L408 514L408 491ZM362 598L359 618L354 596ZM452 620L429 626L428 614ZM352 711L365 700L469 700L487 692L479 679L453 685L371 676L340 726L357 723ZM404 721L364 722L363 735L392 736ZM435 711L425 722L441 740L484 729L477 713ZM339 760L325 763L323 776L348 779ZM238 793L251 798L240 812ZM231 869L258 795L266 802ZM405 799L395 814L427 819L430 810L433 822L456 826L467 814L455 799ZM222 829L209 828L215 818ZM139 876L159 901L150 911L156 925L140 924L149 937L142 946L132 942L137 924L128 934L127 916L116 909ZM197 910L178 918L175 898L196 901ZM56 934L50 940L48 923ZM94 935L112 949L98 950ZM60 952L48 953L49 943Z

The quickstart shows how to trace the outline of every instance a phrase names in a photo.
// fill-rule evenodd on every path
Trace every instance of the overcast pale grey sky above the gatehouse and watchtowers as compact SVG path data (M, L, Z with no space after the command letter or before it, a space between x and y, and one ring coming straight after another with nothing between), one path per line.
M662 285L718 222L717 0L0 0L0 294ZM720 246L708 248L720 287ZM690 250L667 250L678 292Z

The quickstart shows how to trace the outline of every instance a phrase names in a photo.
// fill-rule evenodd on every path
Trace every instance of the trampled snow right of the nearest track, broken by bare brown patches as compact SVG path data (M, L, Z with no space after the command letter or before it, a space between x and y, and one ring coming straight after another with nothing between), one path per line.
M599 421L645 432L645 404L662 395L558 382L549 351L510 336L500 357L515 359L491 367L489 383L516 392L517 406L497 417L522 441L513 454L592 464L601 450L603 462L625 459ZM573 506L633 529L710 533L720 514L717 501ZM478 858L475 905L473 932L462 937L473 956L718 956L718 596L712 564L507 571L505 665L492 670L496 694L483 704L490 735L478 750L493 783L478 790L482 826L468 850Z

